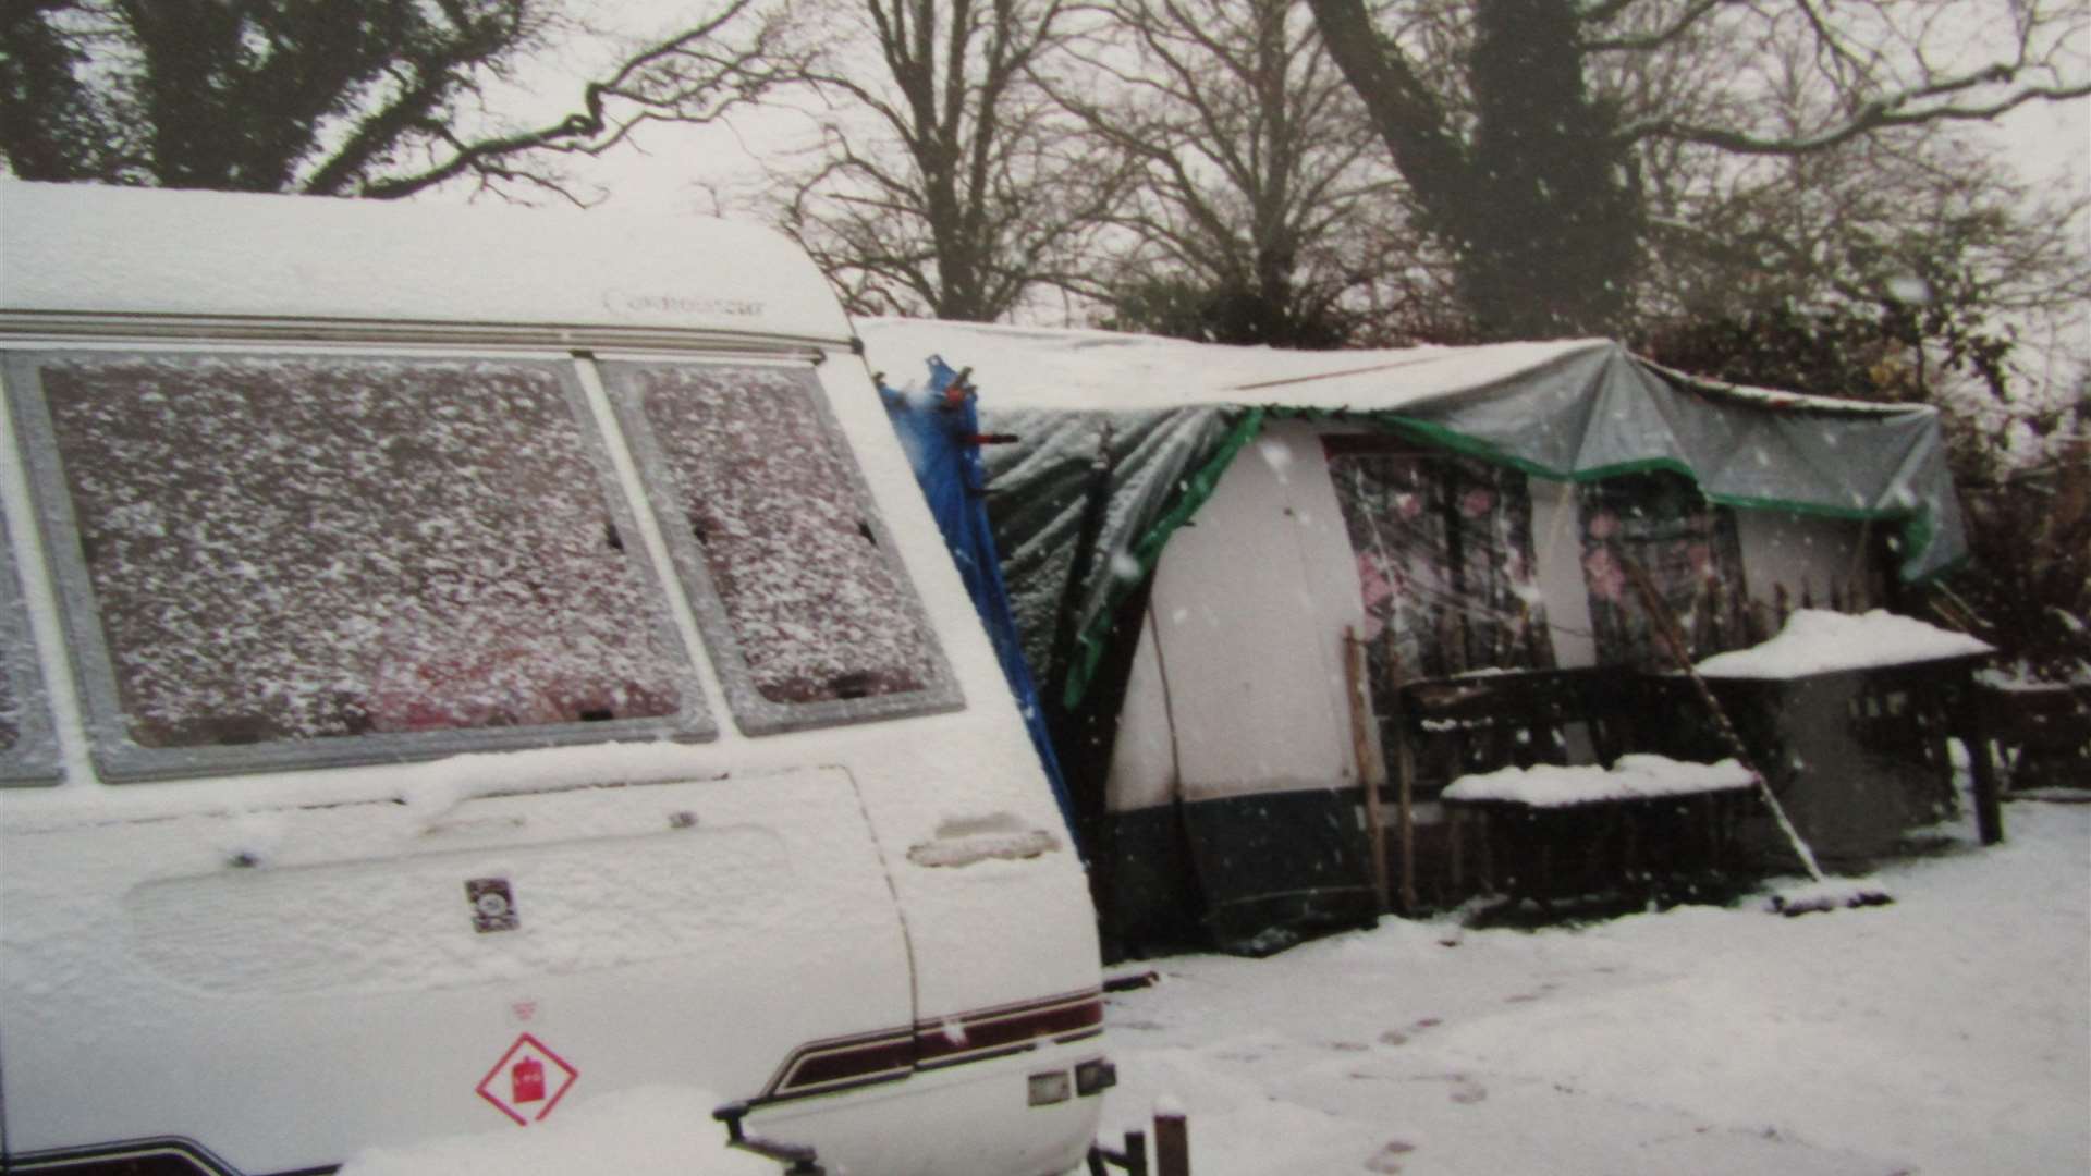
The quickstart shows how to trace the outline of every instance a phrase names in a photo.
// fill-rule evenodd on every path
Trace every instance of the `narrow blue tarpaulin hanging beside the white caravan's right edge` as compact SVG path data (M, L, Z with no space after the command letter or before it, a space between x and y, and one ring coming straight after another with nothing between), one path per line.
M1016 617L1010 613L1010 592L1002 582L995 536L987 527L983 502L987 475L981 469L981 419L974 410L972 389L941 356L930 356L926 393L907 395L880 383L878 395L887 404L887 416L901 437L907 465L914 467L930 515L937 517L937 529L943 532L958 575L966 582L972 609L981 615L981 624L987 626L987 636L995 644L1002 676L1008 678L1010 693L1016 695L1016 707L1031 730L1031 745L1046 768L1046 778L1052 781L1060 820L1066 822L1069 837L1079 841L1066 781L1060 776L1060 760L1046 734L1037 684L1031 680L1031 665L1025 661L1022 640L1016 634Z

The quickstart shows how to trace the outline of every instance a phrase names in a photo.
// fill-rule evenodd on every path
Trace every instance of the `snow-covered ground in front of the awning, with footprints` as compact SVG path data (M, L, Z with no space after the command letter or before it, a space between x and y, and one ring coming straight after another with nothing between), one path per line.
M1384 921L1110 996L1106 1138L1196 1176L2091 1172L2091 806L1880 868L1892 906Z

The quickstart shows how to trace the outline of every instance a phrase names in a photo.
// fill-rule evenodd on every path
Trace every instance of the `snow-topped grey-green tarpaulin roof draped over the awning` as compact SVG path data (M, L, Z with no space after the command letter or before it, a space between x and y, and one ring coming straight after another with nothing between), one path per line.
M1278 352L926 320L864 320L857 331L893 381L928 356L970 366L983 427L1020 437L987 460L995 490L1016 502L997 517L997 532L1012 532L997 542L1029 640L1058 624L1069 561L1054 552L1077 542L1108 421L1100 571L1073 588L1083 634L1066 676L1073 695L1110 609L1140 580L1121 557L1152 569L1271 416L1342 416L1564 481L1669 469L1727 506L1892 523L1905 580L1938 575L1968 546L1936 410L1704 381L1608 339ZM1033 659L1048 678L1058 670Z

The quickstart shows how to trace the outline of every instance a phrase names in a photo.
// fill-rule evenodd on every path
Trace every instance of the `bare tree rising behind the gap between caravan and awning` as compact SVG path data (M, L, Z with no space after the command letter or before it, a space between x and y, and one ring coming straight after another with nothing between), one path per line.
M784 167L786 232L851 310L995 320L1073 287L1121 169L1037 84L1064 0L832 0L811 163ZM855 36L851 36L851 31Z

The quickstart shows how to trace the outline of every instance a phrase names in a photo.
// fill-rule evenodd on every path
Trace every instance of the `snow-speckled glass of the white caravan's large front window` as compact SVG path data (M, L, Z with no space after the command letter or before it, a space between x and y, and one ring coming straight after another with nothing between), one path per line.
M677 709L558 368L63 356L42 387L134 743Z

